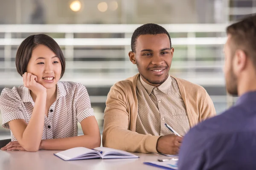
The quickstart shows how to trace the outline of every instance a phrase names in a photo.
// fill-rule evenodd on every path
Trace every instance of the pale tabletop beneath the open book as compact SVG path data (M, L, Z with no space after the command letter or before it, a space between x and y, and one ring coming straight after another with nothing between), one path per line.
M134 153L135 159L87 159L64 161L53 153L56 150L38 152L0 150L0 170L160 170L143 164L145 161L157 161L168 158L156 153Z

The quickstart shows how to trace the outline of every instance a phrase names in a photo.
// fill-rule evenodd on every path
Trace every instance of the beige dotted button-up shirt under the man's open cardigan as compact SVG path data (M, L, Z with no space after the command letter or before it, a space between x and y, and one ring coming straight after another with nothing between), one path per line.
M167 123L184 136L189 128L185 103L176 80L168 77L158 87L148 85L140 76L137 80L138 116L136 132L163 136L172 134Z

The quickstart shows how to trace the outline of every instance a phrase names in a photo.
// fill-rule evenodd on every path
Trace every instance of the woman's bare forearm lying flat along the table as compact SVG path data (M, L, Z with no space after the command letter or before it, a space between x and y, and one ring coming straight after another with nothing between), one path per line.
M100 147L100 135L81 135L60 139L41 140L40 148L44 150L67 150L73 147Z

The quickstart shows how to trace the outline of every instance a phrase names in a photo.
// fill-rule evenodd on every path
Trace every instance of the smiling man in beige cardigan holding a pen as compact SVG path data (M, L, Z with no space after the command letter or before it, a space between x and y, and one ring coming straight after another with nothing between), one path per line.
M131 50L130 60L140 74L111 87L103 146L177 154L190 127L215 115L212 100L201 86L169 75L174 48L165 28L140 26L132 35ZM165 123L181 137L171 134Z

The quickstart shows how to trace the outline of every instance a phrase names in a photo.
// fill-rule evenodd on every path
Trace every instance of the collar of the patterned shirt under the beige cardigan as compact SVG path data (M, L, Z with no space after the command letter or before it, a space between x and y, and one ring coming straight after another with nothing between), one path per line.
M140 82L142 83L143 87L147 91L148 95L150 95L153 91L154 86L149 85L148 83L144 82L144 80L140 76ZM168 75L166 81L164 81L161 85L157 86L157 88L162 91L164 94L168 94L169 88L172 86L172 78Z

